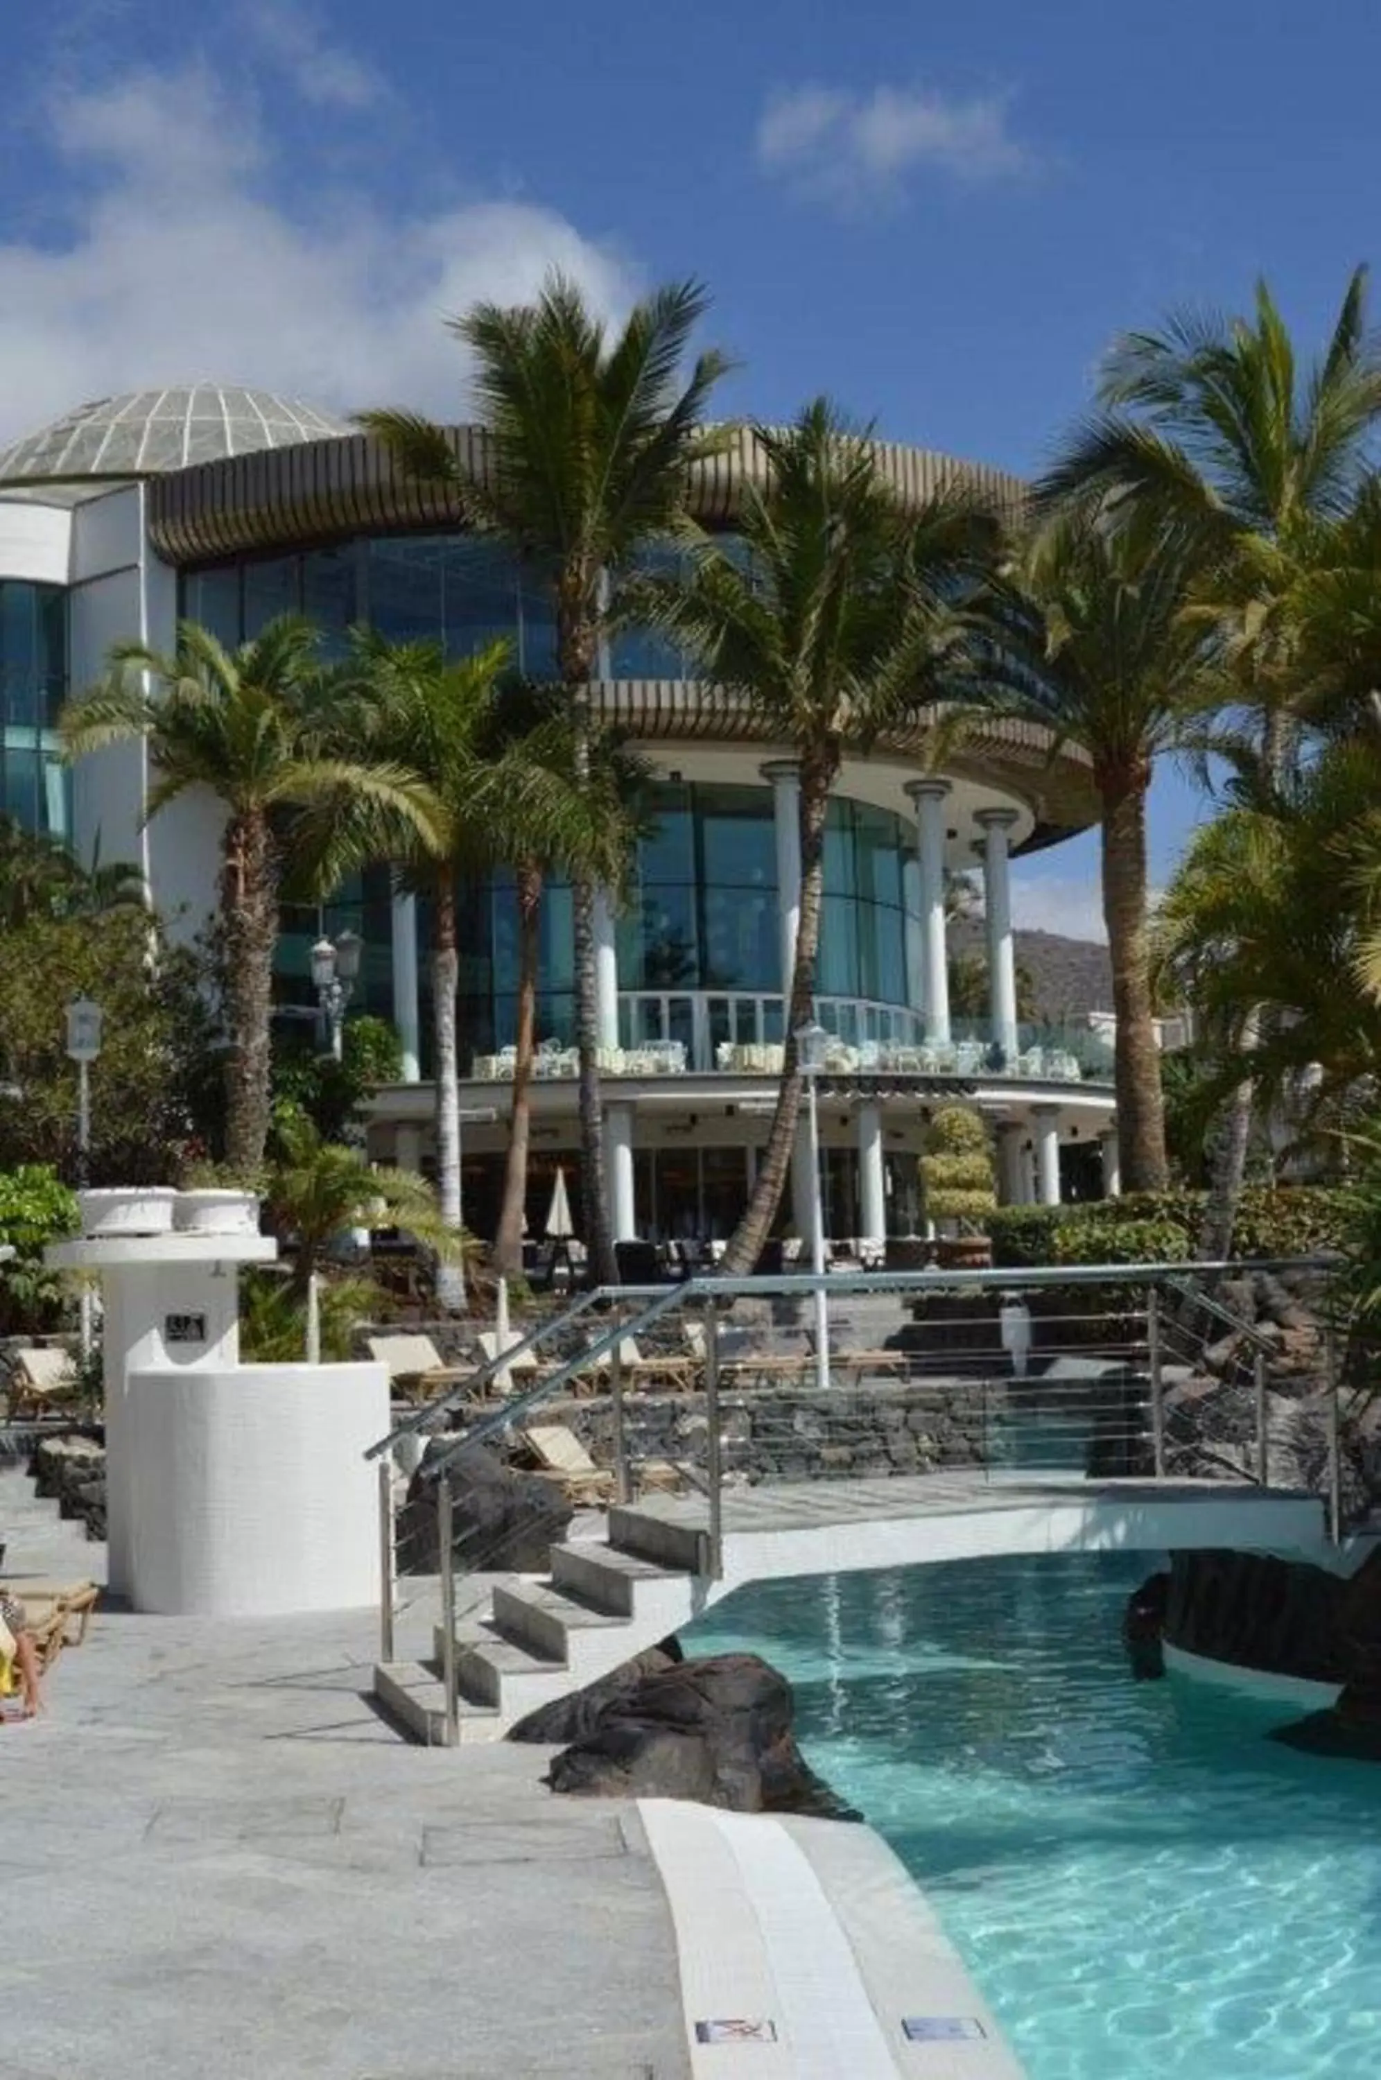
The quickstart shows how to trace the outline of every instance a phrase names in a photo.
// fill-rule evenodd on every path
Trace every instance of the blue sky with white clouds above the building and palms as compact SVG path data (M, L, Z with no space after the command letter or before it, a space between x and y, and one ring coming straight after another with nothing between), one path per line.
M1381 223L1377 0L0 0L0 439L196 376L462 416L443 318L713 293L728 414L828 391L1038 470L1109 341ZM1204 813L1152 790L1152 880ZM1096 838L1017 919L1100 936Z

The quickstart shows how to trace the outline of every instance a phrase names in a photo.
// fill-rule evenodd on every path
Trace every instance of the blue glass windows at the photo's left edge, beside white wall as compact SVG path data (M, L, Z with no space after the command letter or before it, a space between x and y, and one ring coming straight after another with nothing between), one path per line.
M0 580L0 809L64 838L69 774L54 724L67 699L67 591Z

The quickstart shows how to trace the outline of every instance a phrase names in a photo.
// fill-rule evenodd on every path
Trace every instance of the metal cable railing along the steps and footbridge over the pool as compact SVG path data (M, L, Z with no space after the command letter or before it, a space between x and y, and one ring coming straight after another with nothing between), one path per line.
M1271 1340L1210 1292L1242 1269L838 1271L582 1294L370 1448L379 1462L383 1660L393 1660L395 1618L418 1600L399 1604L406 1577L393 1462L397 1446L416 1435L428 1448L406 1508L410 1523L426 1525L426 1558L435 1552L437 1575L424 1566L418 1579L422 1595L439 1591L451 1710L458 1583L543 1572L572 1510L605 1510L657 1491L699 1498L697 1572L718 1579L724 1502L740 1487L898 1475L1269 1487L1283 1406L1317 1439L1319 1487L1339 1537L1331 1344L1321 1340L1308 1392L1275 1379ZM826 1294L824 1342L817 1290ZM1204 1321L1246 1356L1219 1356L1215 1373L1198 1327ZM514 1485L518 1500L489 1545L483 1525L466 1527L458 1514L474 1479L468 1454L495 1454L505 1468L530 1475L530 1487Z

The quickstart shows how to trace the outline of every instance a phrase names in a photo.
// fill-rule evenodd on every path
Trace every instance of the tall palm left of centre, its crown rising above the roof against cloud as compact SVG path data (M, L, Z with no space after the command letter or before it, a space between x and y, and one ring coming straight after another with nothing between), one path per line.
M591 686L611 591L639 551L684 510L690 464L724 374L701 354L682 379L705 312L699 283L653 291L609 337L576 283L551 275L535 304L476 304L451 331L474 356L472 393L489 437L485 468L462 470L447 433L410 412L366 412L360 424L399 464L455 489L462 516L503 535L551 591L557 674L576 724L578 778L589 770ZM597 1073L595 884L574 878L576 1042L584 1229L595 1275L616 1277Z

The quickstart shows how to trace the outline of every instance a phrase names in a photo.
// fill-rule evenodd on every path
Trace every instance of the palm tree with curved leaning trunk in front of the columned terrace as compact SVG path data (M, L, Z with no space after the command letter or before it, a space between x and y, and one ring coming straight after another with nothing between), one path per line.
M724 1269L753 1267L786 1184L811 1019L824 830L844 749L867 751L926 701L973 695L980 580L996 522L936 499L905 512L865 439L826 401L786 433L755 428L765 485L745 485L736 522L747 557L688 539L682 572L647 576L626 609L668 628L703 676L740 697L763 736L801 763L801 921L786 1007L782 1082L767 1144Z

